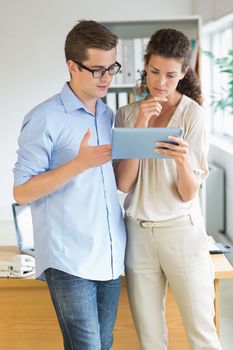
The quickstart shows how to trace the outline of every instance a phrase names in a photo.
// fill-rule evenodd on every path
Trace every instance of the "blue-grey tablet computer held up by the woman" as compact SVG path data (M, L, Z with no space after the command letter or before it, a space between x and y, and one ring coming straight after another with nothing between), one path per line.
M112 130L112 159L169 158L155 152L155 142L172 143L168 136L182 137L183 129L114 128Z

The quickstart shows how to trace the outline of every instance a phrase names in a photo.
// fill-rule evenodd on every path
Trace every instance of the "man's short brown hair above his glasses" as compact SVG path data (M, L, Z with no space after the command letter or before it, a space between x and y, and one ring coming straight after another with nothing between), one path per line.
M65 42L66 61L85 61L87 49L111 50L117 45L118 38L103 24L96 21L81 20L68 33Z

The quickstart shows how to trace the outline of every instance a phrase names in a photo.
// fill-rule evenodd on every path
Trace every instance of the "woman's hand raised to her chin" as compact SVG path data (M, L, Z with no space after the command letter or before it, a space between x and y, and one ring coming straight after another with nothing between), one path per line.
M150 97L140 103L140 111L137 116L134 127L147 128L151 117L157 117L162 111L160 102L166 102L166 97Z

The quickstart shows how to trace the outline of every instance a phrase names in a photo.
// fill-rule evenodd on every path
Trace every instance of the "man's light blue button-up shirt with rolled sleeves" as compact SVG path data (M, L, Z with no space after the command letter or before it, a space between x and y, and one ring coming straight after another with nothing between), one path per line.
M100 99L94 116L65 84L24 118L14 185L74 159L88 128L89 145L111 143L112 123ZM125 228L111 162L32 202L31 211L38 278L49 267L91 280L123 273Z

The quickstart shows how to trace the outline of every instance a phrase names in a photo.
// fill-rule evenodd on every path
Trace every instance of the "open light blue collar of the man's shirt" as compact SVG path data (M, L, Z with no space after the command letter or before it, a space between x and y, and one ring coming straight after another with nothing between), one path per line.
M85 104L73 93L68 83L65 83L60 97L64 104L67 113L71 113L77 109L84 109L87 113L92 114L85 106ZM101 110L102 112L107 108L106 104L101 100L96 101L96 114Z

